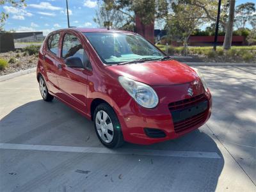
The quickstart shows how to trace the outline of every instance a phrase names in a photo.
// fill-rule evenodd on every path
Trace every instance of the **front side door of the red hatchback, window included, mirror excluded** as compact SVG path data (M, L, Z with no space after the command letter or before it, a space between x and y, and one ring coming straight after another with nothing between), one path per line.
M83 68L72 68L65 63L68 57L79 57ZM61 56L58 60L58 84L61 99L71 104L79 111L86 113L86 89L88 87L88 74L92 74L92 67L88 54L84 50L81 40L72 34L63 34Z

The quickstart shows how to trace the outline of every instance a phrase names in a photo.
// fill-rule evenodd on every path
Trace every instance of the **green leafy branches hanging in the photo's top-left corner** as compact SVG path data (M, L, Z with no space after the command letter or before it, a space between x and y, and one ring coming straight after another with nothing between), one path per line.
M3 6L4 4L11 4L14 7L26 6L25 0L0 0L0 5ZM8 17L9 15L7 13L0 13L0 30L3 29L4 22Z

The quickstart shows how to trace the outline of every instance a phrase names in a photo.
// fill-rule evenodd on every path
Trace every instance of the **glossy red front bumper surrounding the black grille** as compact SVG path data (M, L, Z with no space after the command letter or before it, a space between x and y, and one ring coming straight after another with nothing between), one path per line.
M118 115L124 140L130 143L150 145L152 143L179 138L205 124L211 116L212 100L209 90L205 92L201 86L197 89L194 88L193 90L195 93L194 95L204 94L205 99L207 99L208 106L204 111L204 118L201 118L200 122L191 124L191 126L180 132L177 130L175 131L173 116L168 108L168 104L178 100L188 99L188 93L184 92L184 90L188 90L188 87L189 84L182 84L169 88L166 86L154 87L159 95L159 104L154 109L143 108L138 106L133 99L129 100L125 106L120 108L121 115ZM175 95L173 95L173 92ZM170 97L166 97L166 95L170 95ZM145 132L145 128L158 129L163 131L165 136L163 138L149 137L148 134L146 134L147 132Z

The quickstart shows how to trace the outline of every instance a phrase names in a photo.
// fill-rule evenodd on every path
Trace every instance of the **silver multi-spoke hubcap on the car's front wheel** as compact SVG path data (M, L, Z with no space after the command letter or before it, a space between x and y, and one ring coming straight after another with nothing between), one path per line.
M113 140L114 129L108 113L105 111L98 111L95 118L95 124L100 138L106 142L110 143Z

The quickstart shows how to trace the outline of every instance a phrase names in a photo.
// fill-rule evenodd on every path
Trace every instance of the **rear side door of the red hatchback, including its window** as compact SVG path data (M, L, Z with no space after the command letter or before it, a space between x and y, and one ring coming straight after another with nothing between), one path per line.
M47 47L43 52L45 72L48 80L47 83L49 83L49 90L54 93L56 93L58 90L58 81L56 76L58 67L56 65L56 60L58 59L59 42L60 33L50 35L47 39Z

